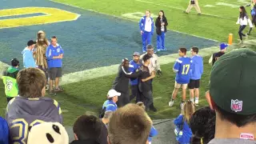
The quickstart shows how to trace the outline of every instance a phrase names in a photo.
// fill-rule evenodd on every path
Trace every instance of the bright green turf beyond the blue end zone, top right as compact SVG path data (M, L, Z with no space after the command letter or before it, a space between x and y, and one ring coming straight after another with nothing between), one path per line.
M223 2L220 0L208 0L201 1L199 0L199 6L201 6L202 13L218 15L224 18L218 18L209 15L201 15L198 17L196 13L183 14L182 10L177 10L172 7L178 7L186 9L189 0L144 0L146 2L138 2L136 0L104 0L104 1L95 1L95 0L86 0L86 1L77 1L77 0L54 0L56 2L62 2L70 4L72 6L82 7L87 10L95 10L103 14L110 14L116 16L122 16L126 13L134 12L144 12L149 9L151 13L158 14L159 10L164 10L166 18L169 20L168 29L177 30L180 32L185 32L187 34L194 34L201 36L203 38L212 38L220 42L227 42L228 35L234 34L234 42L237 42L238 39L238 25L235 23L238 20L238 8L231 8L230 6L216 6L216 7L205 7L205 5L214 5L216 2ZM248 1L249 2L249 1ZM238 2L226 3L234 5L245 5L241 0ZM159 6L161 5L161 6ZM192 9L193 11L194 8ZM247 7L247 11L250 11L250 8ZM135 20L138 22L138 20ZM249 26L247 26L248 29Z

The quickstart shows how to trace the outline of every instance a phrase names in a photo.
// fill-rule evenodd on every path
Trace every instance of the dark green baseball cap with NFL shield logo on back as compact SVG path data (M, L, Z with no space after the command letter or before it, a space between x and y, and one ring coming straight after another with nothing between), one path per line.
M232 50L214 63L210 74L214 103L233 114L256 114L256 53Z

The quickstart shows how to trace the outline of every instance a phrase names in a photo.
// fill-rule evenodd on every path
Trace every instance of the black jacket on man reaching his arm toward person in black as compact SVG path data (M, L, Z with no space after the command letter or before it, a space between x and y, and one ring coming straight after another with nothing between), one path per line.
M128 67L119 66L118 76L115 78L112 88L121 93L127 93L129 90L130 78L137 78L138 73L130 74Z

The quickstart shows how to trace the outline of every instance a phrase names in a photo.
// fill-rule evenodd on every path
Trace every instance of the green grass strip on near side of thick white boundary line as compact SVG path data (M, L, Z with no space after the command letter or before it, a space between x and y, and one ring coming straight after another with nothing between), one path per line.
M256 46L248 46L256 50ZM208 64L209 57L204 58L204 74L202 74L202 83L200 88L200 107L207 106L205 92L208 90L211 66ZM174 72L172 66L174 63L162 65L162 76L154 78L154 105L157 107L157 113L149 113L153 119L174 118L180 113L179 103L181 95L178 94L177 102L173 107L168 106L170 94L174 90ZM81 114L94 112L98 114L102 103L106 100L106 93L110 89L115 75L102 78L94 78L83 82L72 83L63 86L65 92L58 96L51 97L60 102L66 126L72 126L75 118ZM188 92L188 91L187 91ZM0 82L0 116L4 116L6 108L6 98L4 97L4 88ZM187 93L187 98L189 94ZM161 97L161 98L160 98Z

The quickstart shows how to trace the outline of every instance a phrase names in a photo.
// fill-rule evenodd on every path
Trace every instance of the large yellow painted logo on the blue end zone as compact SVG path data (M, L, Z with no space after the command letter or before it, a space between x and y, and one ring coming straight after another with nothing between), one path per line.
M79 17L80 14L74 14L66 10L60 10L52 7L22 7L17 9L6 9L0 10L0 29L75 21Z

